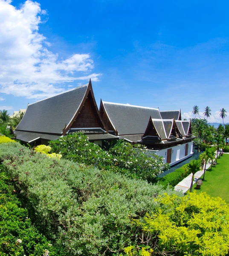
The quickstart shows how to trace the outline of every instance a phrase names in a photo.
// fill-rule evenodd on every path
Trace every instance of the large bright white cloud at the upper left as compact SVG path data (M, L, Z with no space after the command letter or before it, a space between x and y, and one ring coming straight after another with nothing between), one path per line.
M50 43L38 32L45 13L37 2L27 0L16 9L0 0L0 92L38 99L63 91L66 82L99 80L101 74L90 74L90 54L60 60L46 48Z

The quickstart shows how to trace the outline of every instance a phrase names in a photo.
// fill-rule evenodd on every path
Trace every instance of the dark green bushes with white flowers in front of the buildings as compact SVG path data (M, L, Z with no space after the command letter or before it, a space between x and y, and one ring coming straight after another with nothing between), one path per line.
M104 151L99 145L90 143L86 135L74 133L50 141L49 145L52 152L61 154L65 159L148 181L168 169L168 164L163 163L159 155L151 157L142 145L135 148L124 140L119 140L109 151Z

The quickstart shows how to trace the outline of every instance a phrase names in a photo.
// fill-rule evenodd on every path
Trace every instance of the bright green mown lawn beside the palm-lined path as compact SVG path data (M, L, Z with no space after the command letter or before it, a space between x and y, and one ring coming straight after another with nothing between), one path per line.
M223 154L212 171L206 171L205 181L197 193L202 191L214 197L219 196L229 203L229 154Z

